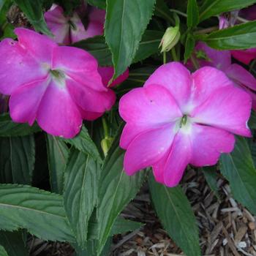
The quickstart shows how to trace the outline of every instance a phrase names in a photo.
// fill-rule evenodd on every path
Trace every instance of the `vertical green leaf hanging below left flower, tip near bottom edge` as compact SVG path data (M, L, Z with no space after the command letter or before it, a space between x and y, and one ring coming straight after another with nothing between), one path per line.
M88 154L72 149L65 170L64 207L78 245L87 241L89 219L97 203L99 165Z

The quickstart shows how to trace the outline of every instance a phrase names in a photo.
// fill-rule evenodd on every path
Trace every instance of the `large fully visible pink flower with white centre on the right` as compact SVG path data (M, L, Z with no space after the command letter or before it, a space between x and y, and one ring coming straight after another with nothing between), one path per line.
M252 99L213 67L195 73L178 62L159 67L120 100L127 122L120 146L132 175L152 166L156 180L174 187L188 164L215 165L233 150L233 134L251 136L246 122Z

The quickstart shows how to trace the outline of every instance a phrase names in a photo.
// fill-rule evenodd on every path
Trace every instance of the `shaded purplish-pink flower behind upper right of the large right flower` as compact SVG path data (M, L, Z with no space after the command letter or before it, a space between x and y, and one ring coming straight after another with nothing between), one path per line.
M214 50L205 43L198 42L195 47L200 67L211 66L225 72L228 78L233 80L236 86L241 87L252 97L252 108L256 110L256 79L244 67L238 64L231 64L231 53L229 50ZM189 66L191 67L189 62Z

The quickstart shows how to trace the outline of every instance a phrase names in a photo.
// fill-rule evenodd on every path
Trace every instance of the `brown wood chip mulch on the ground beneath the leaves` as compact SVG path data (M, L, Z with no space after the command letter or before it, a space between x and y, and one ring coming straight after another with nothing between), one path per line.
M209 189L203 174L196 170L187 171L182 185L195 212L203 255L256 256L256 217L233 199L230 187L220 175L217 185L219 199ZM111 255L184 255L154 214L148 187L141 189L122 216L146 225L132 233L114 236ZM31 239L30 248L31 256L70 256L74 252L68 244L46 243L37 238Z

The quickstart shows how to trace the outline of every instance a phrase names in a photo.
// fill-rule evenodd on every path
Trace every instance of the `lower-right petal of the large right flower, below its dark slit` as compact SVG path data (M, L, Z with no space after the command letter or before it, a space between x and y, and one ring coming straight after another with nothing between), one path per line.
M215 165L222 153L233 151L235 137L224 129L192 125L190 134L192 145L192 159L190 163L195 166Z

